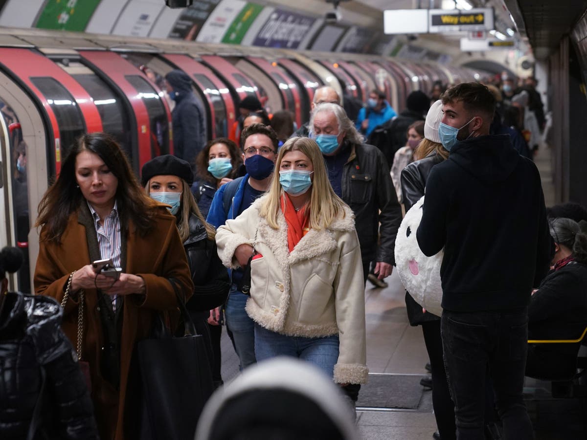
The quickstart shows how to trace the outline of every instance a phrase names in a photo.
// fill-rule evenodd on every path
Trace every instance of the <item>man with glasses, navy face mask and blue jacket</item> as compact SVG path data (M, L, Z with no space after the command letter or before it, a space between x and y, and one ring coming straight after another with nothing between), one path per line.
M247 174L222 185L214 195L207 222L215 228L227 219L237 218L252 202L269 189L277 158L275 131L264 124L252 124L242 130L242 159ZM236 256L236 254L235 254ZM240 369L255 363L255 326L245 312L248 296L238 290L242 269L230 270L231 289L225 307L228 334L240 360Z

